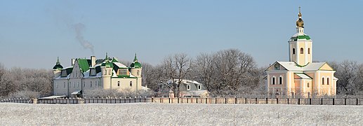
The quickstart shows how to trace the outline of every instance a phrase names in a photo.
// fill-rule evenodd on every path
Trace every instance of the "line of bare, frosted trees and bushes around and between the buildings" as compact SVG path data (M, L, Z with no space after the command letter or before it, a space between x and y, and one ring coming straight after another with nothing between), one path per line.
M130 62L123 62L130 64ZM241 96L248 94L265 95L265 69L258 67L253 57L238 49L201 53L190 57L178 53L164 57L159 64L143 62L143 85L154 92L161 85L178 96L180 84L185 79L204 84L211 96ZM363 94L363 64L345 60L329 62L336 70L337 93L348 95ZM4 68L0 64L0 97L40 97L51 95L53 91L53 71L51 69ZM95 92L101 92L100 90ZM95 94L118 95L114 90ZM119 93L120 94L120 93ZM131 97L132 93L121 93ZM133 93L140 94L140 93ZM143 93L141 93L143 94ZM145 93L144 93L145 94ZM147 93L151 94L151 93Z

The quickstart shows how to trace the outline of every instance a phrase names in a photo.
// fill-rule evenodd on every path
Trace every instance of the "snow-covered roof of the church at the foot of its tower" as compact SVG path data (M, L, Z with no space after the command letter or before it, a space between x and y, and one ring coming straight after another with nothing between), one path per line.
M289 71L317 71L322 67L326 62L312 62L307 64L306 66L298 66L295 62L277 62L282 65L285 69Z

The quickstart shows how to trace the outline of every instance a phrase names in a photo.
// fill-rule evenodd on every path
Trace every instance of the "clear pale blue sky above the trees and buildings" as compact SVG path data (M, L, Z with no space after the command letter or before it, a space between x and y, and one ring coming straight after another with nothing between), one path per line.
M237 48L258 66L288 60L298 6L313 60L363 62L363 1L0 1L0 62L51 69L94 55L158 64L166 55ZM76 26L81 25L77 34ZM79 37L83 37L77 39ZM89 47L89 46L88 46ZM274 48L271 48L274 47Z

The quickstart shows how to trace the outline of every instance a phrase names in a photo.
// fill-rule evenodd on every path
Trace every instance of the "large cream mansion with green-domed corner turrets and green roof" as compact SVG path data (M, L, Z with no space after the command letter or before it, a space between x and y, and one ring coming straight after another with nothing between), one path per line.
M53 95L66 97L84 97L87 90L116 89L133 90L142 89L142 66L135 54L130 66L121 64L117 58L72 59L72 65L63 68L58 61L53 67Z

